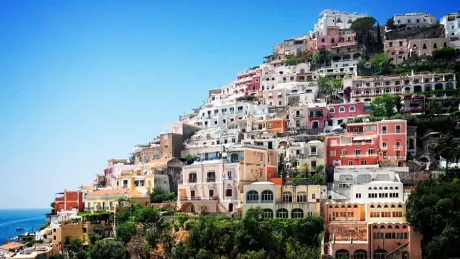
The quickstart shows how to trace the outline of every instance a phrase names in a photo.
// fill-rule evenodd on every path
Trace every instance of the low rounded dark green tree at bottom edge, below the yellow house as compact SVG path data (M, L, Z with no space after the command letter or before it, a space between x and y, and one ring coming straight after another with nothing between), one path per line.
M124 244L113 239L99 240L89 251L91 259L124 259Z

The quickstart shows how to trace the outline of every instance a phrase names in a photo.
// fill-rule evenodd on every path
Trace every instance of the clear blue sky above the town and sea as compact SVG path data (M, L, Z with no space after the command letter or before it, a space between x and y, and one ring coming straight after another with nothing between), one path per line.
M456 3L456 4L455 4ZM458 2L1 1L0 197L46 207L128 157L323 9L439 19Z

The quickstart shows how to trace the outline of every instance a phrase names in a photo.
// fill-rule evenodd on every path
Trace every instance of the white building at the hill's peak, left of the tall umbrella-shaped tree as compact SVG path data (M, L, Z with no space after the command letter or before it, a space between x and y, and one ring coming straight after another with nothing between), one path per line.
M327 33L327 27L338 26L340 30L350 29L353 21L360 17L370 16L367 13L349 13L344 11L325 9L319 13L318 23L315 24L313 31L310 31L310 36L314 39L317 36L323 36Z

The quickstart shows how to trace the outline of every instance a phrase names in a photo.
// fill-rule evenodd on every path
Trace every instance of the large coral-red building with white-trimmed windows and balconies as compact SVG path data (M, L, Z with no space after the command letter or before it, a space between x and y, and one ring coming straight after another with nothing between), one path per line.
M365 165L406 160L406 121L351 123L347 133L327 137L328 166Z

